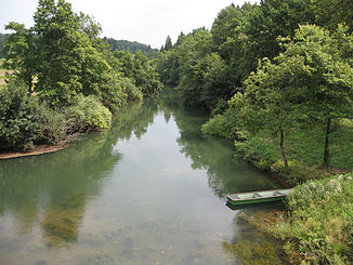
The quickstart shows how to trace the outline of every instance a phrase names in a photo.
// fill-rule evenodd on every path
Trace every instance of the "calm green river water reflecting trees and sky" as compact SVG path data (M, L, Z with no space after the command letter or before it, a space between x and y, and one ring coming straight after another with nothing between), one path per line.
M224 194L277 187L202 136L175 92L133 104L106 132L54 154L0 161L0 264L285 264Z

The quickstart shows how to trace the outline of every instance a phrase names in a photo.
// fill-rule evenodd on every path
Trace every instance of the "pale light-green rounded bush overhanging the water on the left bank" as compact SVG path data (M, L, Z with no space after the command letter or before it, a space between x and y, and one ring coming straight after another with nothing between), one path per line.
M65 114L69 133L106 129L112 124L112 112L92 95L80 95Z

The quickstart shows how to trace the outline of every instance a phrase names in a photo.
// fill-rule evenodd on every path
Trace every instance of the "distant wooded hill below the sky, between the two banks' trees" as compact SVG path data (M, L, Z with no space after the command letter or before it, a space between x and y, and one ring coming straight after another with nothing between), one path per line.
M115 40L106 37L104 37L103 40L112 45L113 51L130 51L134 54L141 51L148 55L156 55L158 53L158 49L153 49L151 45L139 43L136 41Z

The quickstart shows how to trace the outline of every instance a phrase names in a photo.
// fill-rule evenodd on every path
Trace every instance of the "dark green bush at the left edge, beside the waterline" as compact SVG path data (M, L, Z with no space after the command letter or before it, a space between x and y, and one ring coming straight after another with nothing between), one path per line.
M12 81L0 90L1 149L30 149L41 135L40 104L24 83Z

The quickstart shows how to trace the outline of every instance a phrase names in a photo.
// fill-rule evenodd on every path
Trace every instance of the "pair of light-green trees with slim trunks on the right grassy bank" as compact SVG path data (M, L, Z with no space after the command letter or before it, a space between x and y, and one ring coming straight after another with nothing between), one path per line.
M264 61L246 80L246 114L250 124L261 123L280 133L284 151L285 130L299 121L324 122L326 125L322 167L329 165L331 120L351 118L353 108L353 67L345 56L353 51L353 37L340 27L330 35L317 26L300 26L292 40L283 39L285 49L277 57ZM288 41L289 42L286 42ZM351 65L350 65L351 63ZM259 115L260 114L260 115Z

